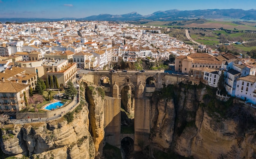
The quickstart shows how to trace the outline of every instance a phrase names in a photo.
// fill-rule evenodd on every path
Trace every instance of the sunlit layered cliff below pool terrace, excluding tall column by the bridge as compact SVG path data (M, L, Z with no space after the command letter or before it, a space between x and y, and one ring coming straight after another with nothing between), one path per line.
M1 148L7 155L23 154L32 158L94 159L95 147L88 131L88 108L84 105L74 120L63 118L1 129Z

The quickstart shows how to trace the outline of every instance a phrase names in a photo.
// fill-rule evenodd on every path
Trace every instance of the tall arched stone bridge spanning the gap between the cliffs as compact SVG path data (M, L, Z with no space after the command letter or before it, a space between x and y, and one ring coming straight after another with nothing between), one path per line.
M150 103L155 90L163 84L187 82L188 76L164 73L164 70L136 70L128 72L95 71L82 77L83 81L94 83L105 90L104 128L106 142L121 148L125 137L130 137L134 150L139 151L139 142L147 144L150 134ZM122 90L133 94L134 135L121 134L121 100ZM129 93L128 93L129 94ZM126 97L127 98L127 97ZM127 99L126 99L127 100Z

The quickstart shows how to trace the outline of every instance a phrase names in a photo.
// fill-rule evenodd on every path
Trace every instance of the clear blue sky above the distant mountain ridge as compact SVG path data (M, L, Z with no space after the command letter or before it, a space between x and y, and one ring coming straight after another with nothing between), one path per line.
M254 7L254 8L253 8ZM99 14L148 15L170 9L256 9L256 0L0 0L0 17L88 17Z

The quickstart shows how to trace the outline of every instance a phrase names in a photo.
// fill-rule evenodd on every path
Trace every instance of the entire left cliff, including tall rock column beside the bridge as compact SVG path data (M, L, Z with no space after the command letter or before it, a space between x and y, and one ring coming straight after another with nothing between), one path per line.
M81 90L85 104L73 111L74 120L70 123L60 118L46 123L4 126L0 134L4 154L44 159L94 159L95 155L101 156L104 100L97 87L88 88Z

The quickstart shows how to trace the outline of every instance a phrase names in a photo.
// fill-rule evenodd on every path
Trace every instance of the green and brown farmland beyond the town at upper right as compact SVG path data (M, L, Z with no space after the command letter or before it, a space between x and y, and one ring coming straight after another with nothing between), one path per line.
M163 31L162 33L168 33L169 36L182 40L186 44L194 45L186 38L184 30L188 29L193 40L211 48L216 48L218 44L239 41L243 44L231 44L225 47L243 53L256 49L256 21L234 22L229 20L224 22L197 19L173 22L150 21L140 25L155 26L156 28L159 26L161 27L159 29Z

